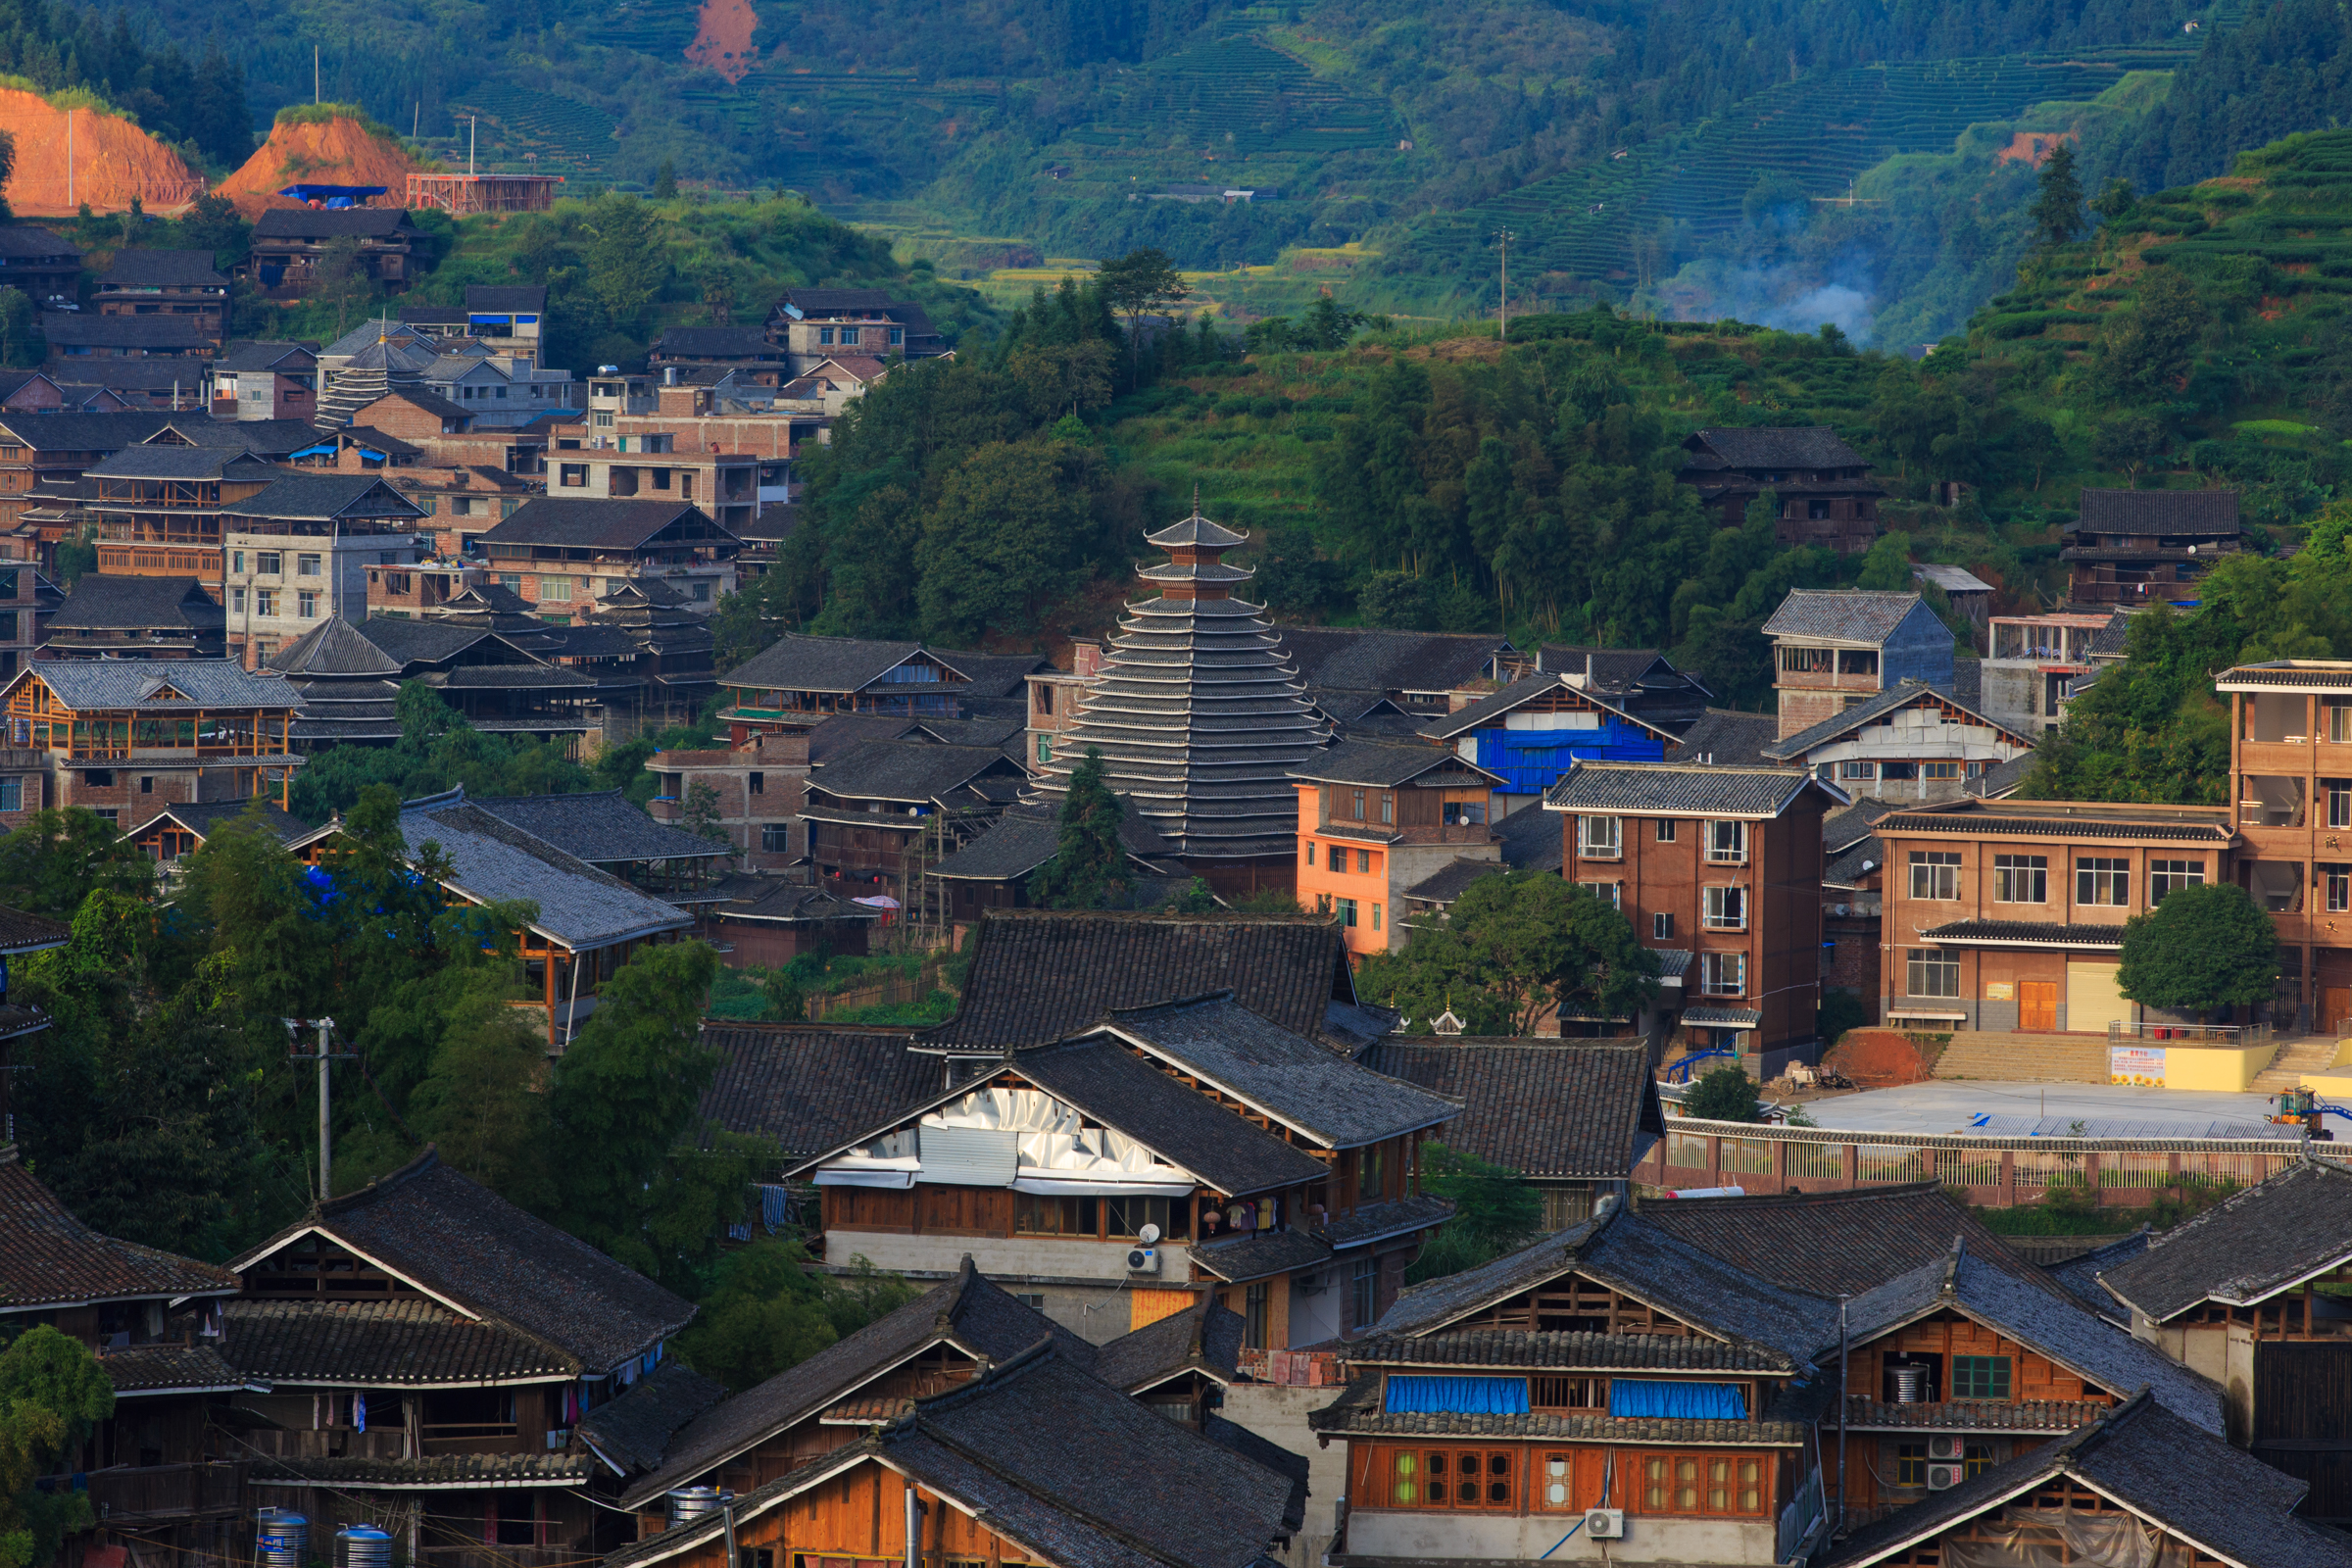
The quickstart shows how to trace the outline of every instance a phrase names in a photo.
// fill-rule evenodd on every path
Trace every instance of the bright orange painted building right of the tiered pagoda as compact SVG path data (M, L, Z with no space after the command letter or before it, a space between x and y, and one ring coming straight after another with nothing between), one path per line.
M1494 860L1498 773L1435 745L1350 741L1291 769L1298 785L1298 903L1338 914L1348 957L1404 947L1404 889L1454 860Z

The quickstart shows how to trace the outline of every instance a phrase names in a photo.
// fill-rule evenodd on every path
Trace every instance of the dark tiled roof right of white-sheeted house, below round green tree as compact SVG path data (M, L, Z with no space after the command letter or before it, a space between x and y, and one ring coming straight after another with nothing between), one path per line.
M1364 1065L1465 1100L1437 1140L1543 1180L1625 1180L1665 1135L1649 1046L1390 1034Z

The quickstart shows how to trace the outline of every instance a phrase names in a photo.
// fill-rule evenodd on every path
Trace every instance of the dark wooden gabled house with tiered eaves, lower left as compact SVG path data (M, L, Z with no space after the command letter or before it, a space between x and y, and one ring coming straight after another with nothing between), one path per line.
M390 1523L447 1568L579 1556L616 1533L567 1443L654 1371L694 1307L440 1164L428 1147L230 1262L223 1354L254 1500L313 1540Z

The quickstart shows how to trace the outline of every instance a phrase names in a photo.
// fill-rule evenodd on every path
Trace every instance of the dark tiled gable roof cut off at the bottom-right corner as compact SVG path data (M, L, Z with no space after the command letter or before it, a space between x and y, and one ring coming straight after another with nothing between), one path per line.
M2027 1448L2006 1465L1863 1526L1828 1568L1870 1568L1905 1554L2056 1476L2074 1476L2133 1514L2239 1568L2347 1568L2352 1549L2288 1514L2305 1483L2209 1436L2136 1394L2072 1436Z

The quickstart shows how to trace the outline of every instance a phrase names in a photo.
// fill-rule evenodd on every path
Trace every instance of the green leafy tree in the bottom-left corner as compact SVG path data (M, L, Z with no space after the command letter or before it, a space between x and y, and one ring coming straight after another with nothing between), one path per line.
M33 1488L115 1413L115 1385L80 1340L49 1324L0 1347L0 1568L40 1568L94 1523L89 1493Z

